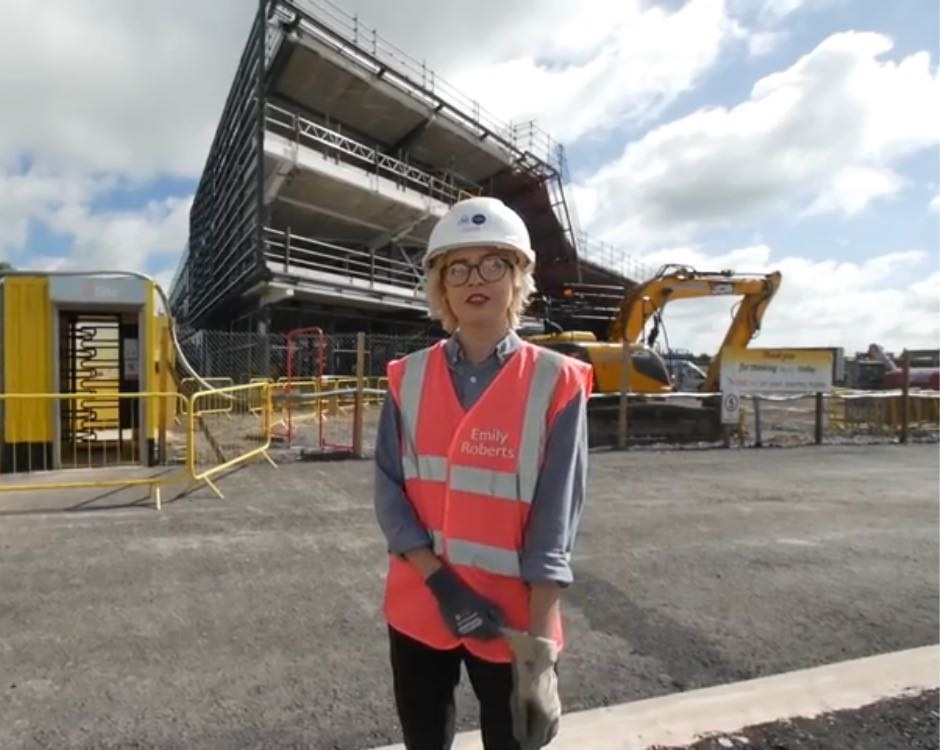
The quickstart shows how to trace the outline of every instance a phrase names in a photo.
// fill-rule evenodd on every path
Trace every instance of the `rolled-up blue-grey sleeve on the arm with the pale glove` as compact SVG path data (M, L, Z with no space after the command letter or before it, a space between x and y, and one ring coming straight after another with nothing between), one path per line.
M567 586L574 579L571 552L584 507L587 462L587 401L579 391L546 437L522 554L522 577L529 583Z

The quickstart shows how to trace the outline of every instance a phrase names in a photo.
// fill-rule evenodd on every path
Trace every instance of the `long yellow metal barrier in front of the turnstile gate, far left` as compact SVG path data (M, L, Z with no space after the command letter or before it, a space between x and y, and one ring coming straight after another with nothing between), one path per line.
M0 393L0 493L145 486L159 509L161 488L186 481L182 461L177 471L159 476L102 474L171 462L183 440L160 435L144 415L166 414L168 405L178 409L184 401L178 393L159 392ZM66 481L55 473L64 469L98 471ZM49 479L33 481L36 473Z

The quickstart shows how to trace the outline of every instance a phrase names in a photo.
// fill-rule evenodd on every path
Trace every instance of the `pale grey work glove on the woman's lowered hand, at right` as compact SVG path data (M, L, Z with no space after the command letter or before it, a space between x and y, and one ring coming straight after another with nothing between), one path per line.
M513 688L509 699L513 736L522 750L537 750L555 739L561 722L555 672L558 647L550 638L518 630L504 628L503 634L513 653Z

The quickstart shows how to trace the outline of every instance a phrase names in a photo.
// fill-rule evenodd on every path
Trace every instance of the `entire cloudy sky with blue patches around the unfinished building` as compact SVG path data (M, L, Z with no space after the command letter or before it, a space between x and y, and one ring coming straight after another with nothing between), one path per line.
M255 4L0 3L0 260L169 282ZM782 271L761 345L940 343L935 0L337 4L564 142L624 258ZM713 351L730 304L676 303L670 343Z

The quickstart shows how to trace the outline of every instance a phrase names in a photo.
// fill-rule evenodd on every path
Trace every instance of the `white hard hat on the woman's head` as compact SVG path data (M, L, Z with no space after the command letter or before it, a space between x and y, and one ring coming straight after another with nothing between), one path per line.
M460 247L501 247L515 250L525 270L535 264L535 252L522 218L497 198L458 201L435 224L424 254L424 270L435 258Z

